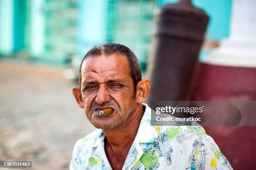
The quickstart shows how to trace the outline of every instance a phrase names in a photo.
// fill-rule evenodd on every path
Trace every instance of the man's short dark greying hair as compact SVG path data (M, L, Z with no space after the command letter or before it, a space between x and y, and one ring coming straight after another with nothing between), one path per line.
M82 63L87 57L97 57L100 55L110 55L113 53L120 53L127 57L129 65L130 65L130 74L133 79L134 91L136 91L136 86L139 81L141 81L141 67L138 62L136 55L125 45L114 44L114 43L105 43L101 45L97 45L93 47L90 51L82 59L78 70L78 82L81 85L82 77L81 77L81 67Z

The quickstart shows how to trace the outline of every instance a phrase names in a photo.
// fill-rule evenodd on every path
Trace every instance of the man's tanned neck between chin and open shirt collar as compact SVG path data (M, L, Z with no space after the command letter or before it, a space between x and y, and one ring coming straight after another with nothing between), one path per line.
M138 132L142 115L143 106L138 104L136 110L128 116L122 125L115 129L103 130L106 136L106 144L113 149L131 146Z

